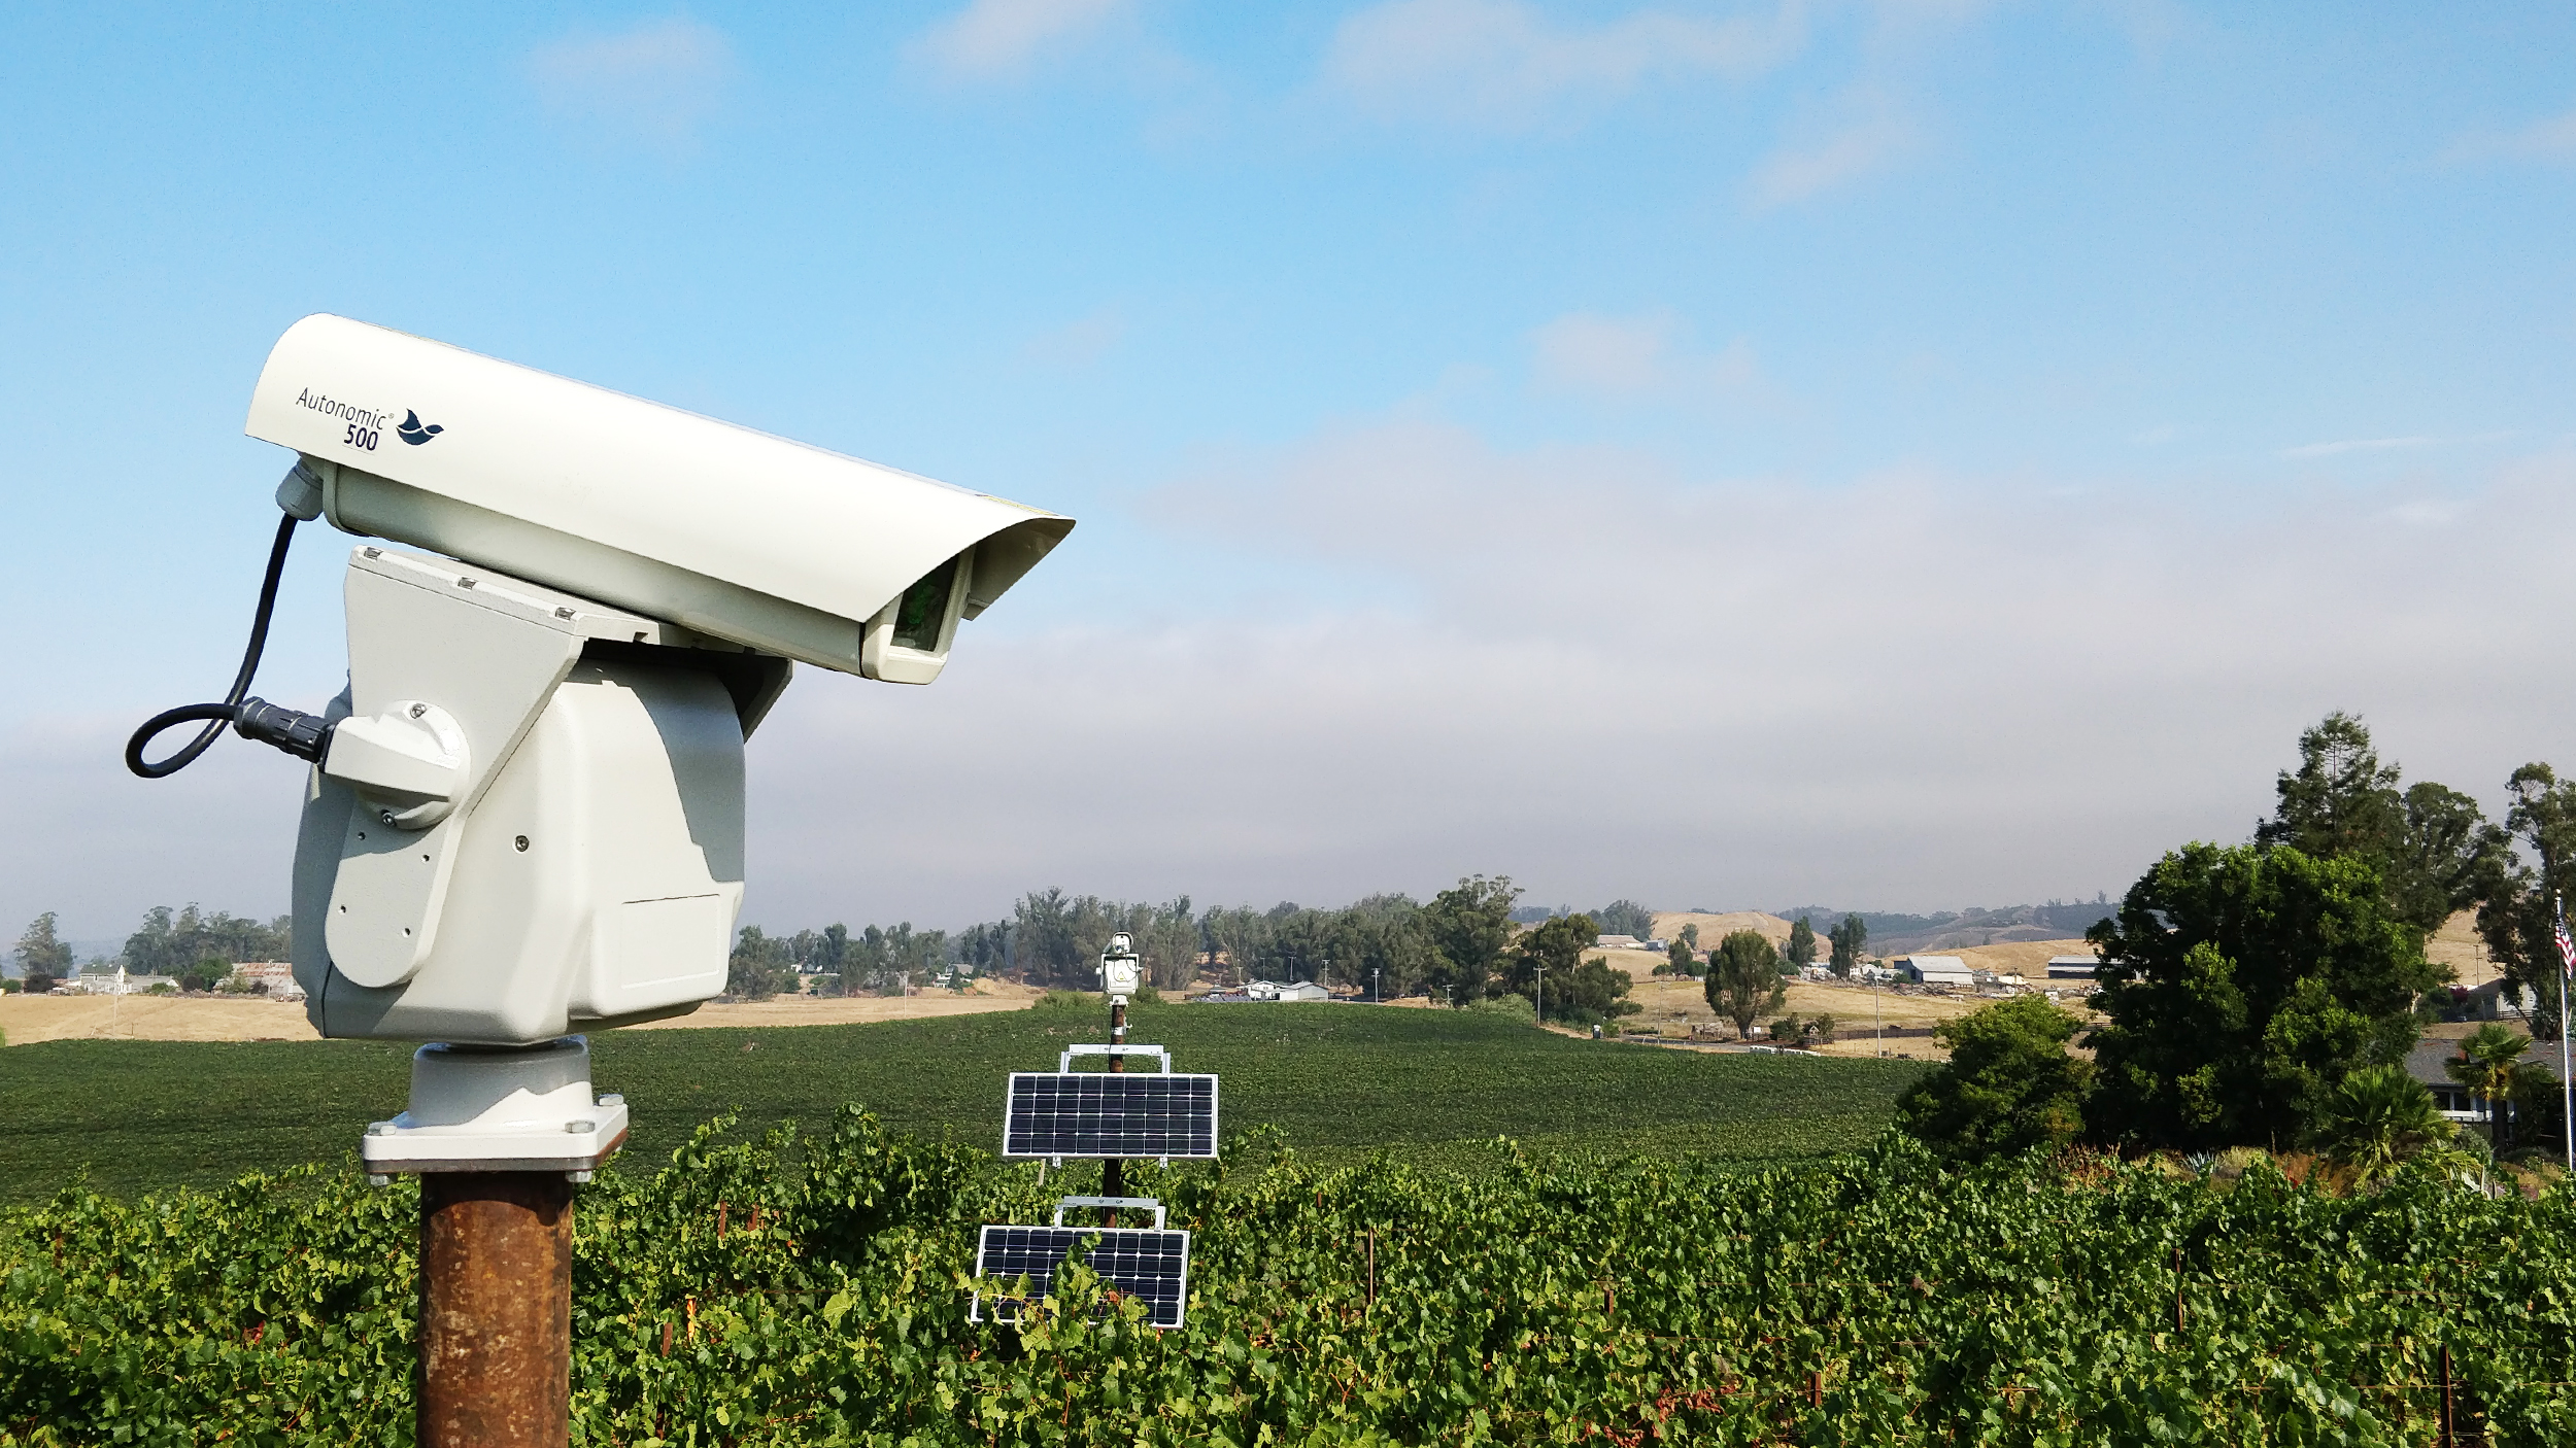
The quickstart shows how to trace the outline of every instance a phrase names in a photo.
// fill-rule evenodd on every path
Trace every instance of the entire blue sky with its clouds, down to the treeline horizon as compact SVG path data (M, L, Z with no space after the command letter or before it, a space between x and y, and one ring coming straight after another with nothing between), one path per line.
M0 917L283 910L289 760L116 750L229 675L307 312L1082 518L935 688L801 675L757 922L2089 897L2329 709L2494 806L2576 763L2571 31L13 5Z

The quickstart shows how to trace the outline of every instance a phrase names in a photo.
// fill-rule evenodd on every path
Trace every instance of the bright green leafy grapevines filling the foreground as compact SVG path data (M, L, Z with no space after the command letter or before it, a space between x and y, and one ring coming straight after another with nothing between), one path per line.
M1144 1327L1074 1265L969 1322L1059 1172L842 1110L580 1196L574 1443L2566 1443L2576 1196L2458 1159L1131 1167L1190 1226ZM0 1214L0 1445L410 1443L417 1190L304 1170ZM1002 1288L1005 1283L984 1283ZM2447 1384L2447 1389L2445 1389Z

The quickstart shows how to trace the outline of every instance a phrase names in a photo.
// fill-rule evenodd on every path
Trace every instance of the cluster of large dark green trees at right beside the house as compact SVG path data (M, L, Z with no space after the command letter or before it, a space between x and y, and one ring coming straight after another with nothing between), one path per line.
M2249 843L2166 853L2087 933L2102 1023L2040 997L1953 1020L1950 1064L1906 1095L1899 1123L1960 1154L2097 1141L2393 1162L2450 1134L2406 1056L2452 1000L2452 971L2424 943L2463 910L2530 1036L2555 1041L2576 786L2522 765L2499 824L2455 788L2409 786L2349 714L2303 732L2298 752ZM2517 1100L2524 1131L2545 1136L2558 1080L2519 1064L2524 1046L2481 1031L2452 1077Z

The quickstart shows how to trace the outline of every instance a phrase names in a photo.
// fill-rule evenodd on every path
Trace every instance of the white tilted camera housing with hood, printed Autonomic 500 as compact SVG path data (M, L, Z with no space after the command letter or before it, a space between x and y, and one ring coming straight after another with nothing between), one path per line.
M317 464L322 513L348 533L894 683L938 678L956 621L1074 528L330 314L278 338L245 433ZM933 616L899 631L896 603L933 582L914 608Z

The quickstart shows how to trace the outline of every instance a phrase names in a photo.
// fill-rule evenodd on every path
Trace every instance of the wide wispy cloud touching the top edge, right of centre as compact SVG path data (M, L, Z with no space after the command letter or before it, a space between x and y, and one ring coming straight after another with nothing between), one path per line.
M1806 44L1806 8L1723 21L1641 8L1558 26L1525 0L1386 0L1342 21L1324 77L1381 116L1525 129L1564 100L1654 80L1765 75Z

